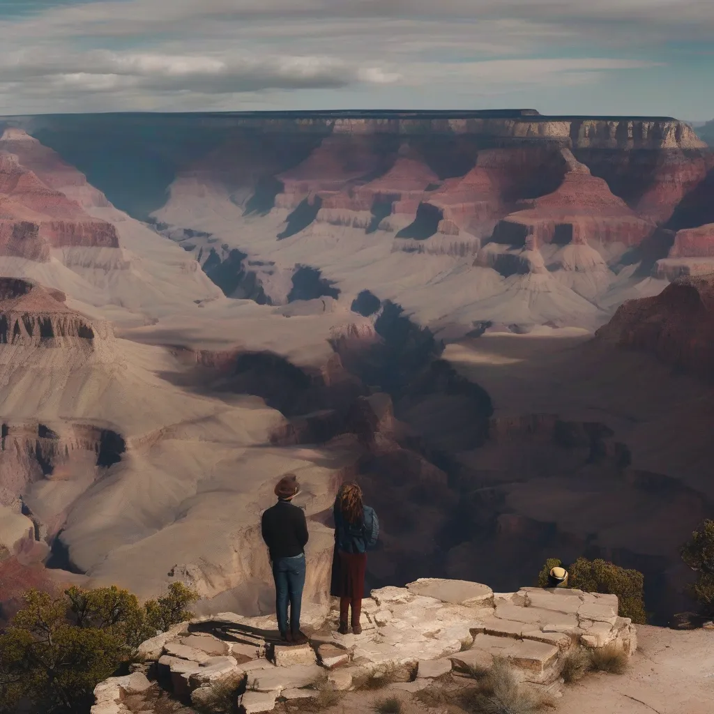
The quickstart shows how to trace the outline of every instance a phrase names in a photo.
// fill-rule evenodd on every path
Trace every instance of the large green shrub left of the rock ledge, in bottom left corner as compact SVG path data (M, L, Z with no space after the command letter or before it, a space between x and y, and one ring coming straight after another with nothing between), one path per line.
M0 634L0 711L20 702L48 714L89 711L96 685L134 660L136 646L157 630L189 619L186 607L197 599L181 583L144 606L114 586L72 587L61 598L29 590Z

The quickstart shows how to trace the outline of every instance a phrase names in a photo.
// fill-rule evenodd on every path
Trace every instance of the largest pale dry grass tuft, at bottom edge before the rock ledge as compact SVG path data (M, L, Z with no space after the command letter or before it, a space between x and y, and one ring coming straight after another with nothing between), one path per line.
M493 658L488 673L461 694L463 708L472 714L535 714L553 707L548 695L522 687L503 658Z

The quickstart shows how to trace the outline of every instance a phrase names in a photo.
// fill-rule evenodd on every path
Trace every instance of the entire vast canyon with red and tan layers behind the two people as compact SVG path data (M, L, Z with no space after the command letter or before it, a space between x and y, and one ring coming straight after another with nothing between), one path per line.
M671 118L0 118L0 583L176 578L259 615L297 474L307 597L357 478L369 585L645 573L712 512L714 153ZM662 527L666 524L666 528ZM20 578L17 573L22 573ZM9 583L9 584L6 584ZM0 613L3 614L3 613Z

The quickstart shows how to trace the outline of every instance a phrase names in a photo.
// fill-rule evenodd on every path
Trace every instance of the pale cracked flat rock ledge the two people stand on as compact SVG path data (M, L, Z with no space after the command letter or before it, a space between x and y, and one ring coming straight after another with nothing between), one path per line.
M493 593L480 583L436 578L373 590L363 601L361 635L337 633L336 603L306 605L302 625L306 645L281 643L271 615L220 613L176 625L140 646L145 661L134 673L96 687L91 712L152 714L161 693L191 712L230 678L241 710L257 714L316 695L325 682L353 690L367 677L388 675L401 680L393 686L416 691L458 663L489 665L494 656L508 659L523 682L552 690L571 648L615 643L628 656L637 648L635 626L618 616L615 595Z

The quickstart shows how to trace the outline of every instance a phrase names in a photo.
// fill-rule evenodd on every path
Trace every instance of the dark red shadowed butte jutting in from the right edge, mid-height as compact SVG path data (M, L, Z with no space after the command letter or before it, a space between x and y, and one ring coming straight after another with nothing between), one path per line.
M626 301L595 336L714 378L714 275L679 278L658 296Z

